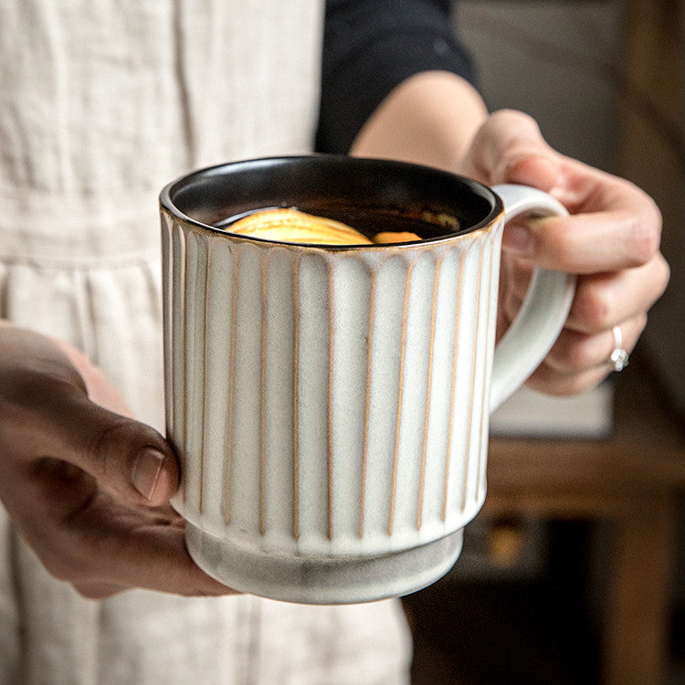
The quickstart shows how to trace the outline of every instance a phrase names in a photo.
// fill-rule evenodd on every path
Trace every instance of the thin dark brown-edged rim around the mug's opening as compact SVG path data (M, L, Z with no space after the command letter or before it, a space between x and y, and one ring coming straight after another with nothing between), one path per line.
M227 230L227 227L217 227L212 224L205 223L199 219L189 216L186 214L176 203L174 202L174 195L179 193L182 189L187 189L193 184L197 184L199 181L204 180L212 176L226 175L227 172L235 173L239 171L240 167L244 167L246 170L254 169L258 166L275 166L275 165L288 165L292 163L316 163L315 160L321 160L322 163L344 163L349 165L352 163L354 166L360 168L364 167L383 167L385 169L392 169L395 173L405 172L411 173L412 170L420 172L421 174L433 175L436 179L449 179L452 182L456 182L464 187L466 187L471 193L479 195L480 197L490 201L490 212L480 219L478 222L472 226L461 228L458 231L451 233L444 233L434 237L421 238L420 240L408 240L396 243L372 243L372 244L359 244L359 245L328 245L322 243L300 243L286 240L273 240L264 237L255 237L241 235L238 233L232 233ZM382 172L383 168L379 168L378 172ZM486 184L482 184L476 179L469 178L469 176L463 176L461 174L455 174L444 169L439 169L437 167L430 167L425 164L417 164L411 162L401 162L397 160L380 159L373 157L353 157L346 154L331 154L331 153L311 153L311 154L297 154L297 155L276 155L267 157L253 157L242 160L235 160L232 162L216 163L209 166L200 167L191 171L187 174L183 174L174 181L166 184L159 195L159 205L162 209L168 212L170 215L175 216L184 221L185 224L200 228L205 231L210 231L216 235L225 236L228 239L233 240L244 240L248 242L254 242L261 245L274 245L279 247L295 247L295 248L314 248L322 249L326 251L344 251L344 250L365 250L365 249L387 249L387 248L416 248L423 245L435 245L438 243L453 241L458 238L470 237L481 230L490 228L493 226L498 217L504 213L504 205L502 203L501 197L495 193L492 188Z

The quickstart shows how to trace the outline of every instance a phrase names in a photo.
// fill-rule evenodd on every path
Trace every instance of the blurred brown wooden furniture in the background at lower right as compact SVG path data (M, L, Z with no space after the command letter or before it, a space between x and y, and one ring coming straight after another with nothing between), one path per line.
M602 441L493 438L485 515L614 523L605 685L661 685L685 439L637 359L617 374L616 430Z

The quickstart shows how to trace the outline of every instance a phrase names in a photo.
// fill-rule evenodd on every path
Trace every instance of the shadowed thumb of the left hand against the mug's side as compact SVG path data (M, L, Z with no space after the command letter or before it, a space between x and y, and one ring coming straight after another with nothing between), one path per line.
M152 427L120 413L123 401L103 374L93 374L82 355L74 364L74 354L37 332L8 323L0 331L2 451L28 469L40 458L72 464L99 489L133 504L168 501L178 485L171 447ZM95 401L89 385L103 388Z

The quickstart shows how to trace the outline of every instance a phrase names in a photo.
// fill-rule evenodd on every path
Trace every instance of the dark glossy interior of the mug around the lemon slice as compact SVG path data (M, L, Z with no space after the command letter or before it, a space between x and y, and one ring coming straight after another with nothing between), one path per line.
M422 242L488 226L502 211L500 198L490 188L457 174L410 163L327 154L201 169L167 185L160 201L175 216L222 233L230 220L258 209L296 207L367 234L385 230L389 222L394 230L414 230ZM384 227L379 227L379 216L384 217Z

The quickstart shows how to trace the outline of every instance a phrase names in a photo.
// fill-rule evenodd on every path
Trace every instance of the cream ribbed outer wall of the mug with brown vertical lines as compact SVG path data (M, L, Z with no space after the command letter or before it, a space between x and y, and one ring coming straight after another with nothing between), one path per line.
M499 231L328 253L163 227L174 506L189 521L325 554L403 549L473 517Z

